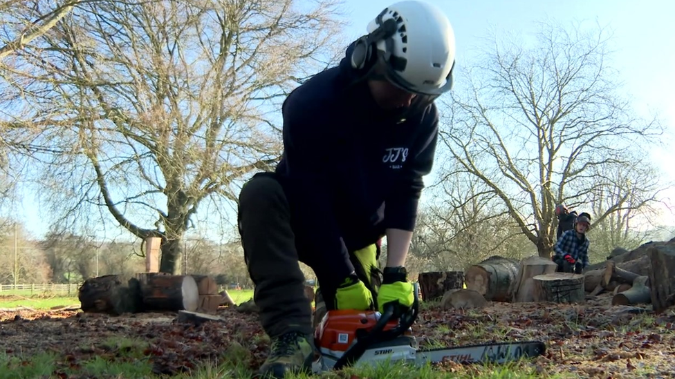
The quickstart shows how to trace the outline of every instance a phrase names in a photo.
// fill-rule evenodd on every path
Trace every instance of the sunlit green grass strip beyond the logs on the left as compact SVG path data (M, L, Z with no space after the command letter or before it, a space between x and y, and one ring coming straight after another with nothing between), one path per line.
M241 304L253 298L252 289L228 290L232 301ZM57 292L34 292L30 290L2 291L0 293L0 308L27 307L30 309L51 309L53 307L68 307L79 305L76 294Z

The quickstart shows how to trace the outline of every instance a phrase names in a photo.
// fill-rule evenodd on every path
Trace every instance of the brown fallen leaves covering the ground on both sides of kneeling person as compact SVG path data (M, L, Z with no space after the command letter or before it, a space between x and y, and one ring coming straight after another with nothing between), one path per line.
M591 378L660 378L673 372L675 313L645 313L645 308L612 307L609 298L588 304L506 304L471 311L420 311L413 326L420 347L540 340L544 356L533 367L542 375L578 373ZM30 356L53 351L63 358L59 370L77 368L95 356L105 360L150 360L153 371L174 375L223 359L255 369L266 358L269 340L255 314L221 308L224 322L199 327L176 322L176 313L109 316L77 311L0 312L0 353ZM127 338L142 347L113 346ZM225 354L227 353L227 354ZM226 358L229 357L229 358ZM453 362L439 370L470 370ZM610 374L611 373L611 374ZM58 372L55 372L58 375Z

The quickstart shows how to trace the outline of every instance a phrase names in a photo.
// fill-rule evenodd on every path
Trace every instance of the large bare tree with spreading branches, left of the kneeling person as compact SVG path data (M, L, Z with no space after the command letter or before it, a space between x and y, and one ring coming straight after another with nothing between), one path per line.
M333 57L336 6L80 3L14 73L32 81L22 105L59 146L45 173L64 222L102 207L133 235L162 237L160 271L175 273L198 205L236 202L237 180L277 161L275 110Z

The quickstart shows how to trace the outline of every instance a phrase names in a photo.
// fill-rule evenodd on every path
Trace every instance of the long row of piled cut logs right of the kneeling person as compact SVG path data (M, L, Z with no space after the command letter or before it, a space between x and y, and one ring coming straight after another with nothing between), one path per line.
M584 302L589 296L610 293L613 305L651 304L656 313L675 305L675 238L648 242L632 251L614 249L607 260L586 267L582 274L556 269L554 262L539 256L518 262L495 255L468 267L463 276L474 297L493 302ZM449 302L452 293L457 296L459 279L447 279L461 275L438 274L420 274L423 293L433 293L426 296L431 300L444 293Z

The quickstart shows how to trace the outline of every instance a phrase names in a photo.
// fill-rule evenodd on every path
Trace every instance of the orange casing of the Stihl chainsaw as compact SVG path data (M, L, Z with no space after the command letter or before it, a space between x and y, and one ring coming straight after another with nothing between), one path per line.
M341 356L357 339L357 331L364 329L369 333L380 320L378 311L356 311L353 309L328 311L314 331L314 340L322 353ZM391 320L385 325L384 331L398 326L398 320ZM404 336L412 336L408 329Z

